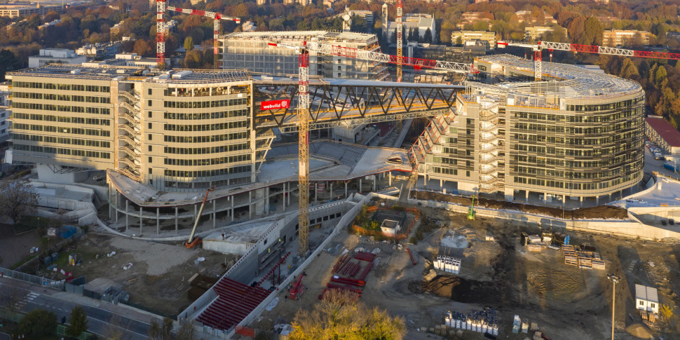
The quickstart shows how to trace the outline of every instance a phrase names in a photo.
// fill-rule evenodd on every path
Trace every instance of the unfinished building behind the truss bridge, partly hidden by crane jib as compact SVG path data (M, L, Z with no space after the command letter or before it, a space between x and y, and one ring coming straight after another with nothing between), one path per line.
M235 32L220 38L223 69L248 69L269 75L298 74L298 55L289 48L268 46L270 42L301 46L320 41L336 46L379 51L375 34L327 31ZM358 60L310 51L309 74L339 79L383 80L387 67L381 62Z

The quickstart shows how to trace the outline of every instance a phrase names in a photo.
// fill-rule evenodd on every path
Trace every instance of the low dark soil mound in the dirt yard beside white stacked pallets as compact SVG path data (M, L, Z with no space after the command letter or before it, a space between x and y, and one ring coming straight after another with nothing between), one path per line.
M432 280L423 280L421 290L463 303L490 304L497 302L494 297L498 297L495 283L456 276L435 276Z

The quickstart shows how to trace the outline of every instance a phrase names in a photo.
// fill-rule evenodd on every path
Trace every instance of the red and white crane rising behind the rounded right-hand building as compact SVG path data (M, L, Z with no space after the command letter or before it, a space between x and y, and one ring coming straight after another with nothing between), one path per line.
M567 50L571 52L598 53L606 55L621 55L623 57L644 57L667 60L680 60L680 53L653 52L646 50L628 50L626 48L614 48L596 45L580 45L578 43L555 43L552 41L537 41L536 43L524 43L515 41L498 41L498 48L505 46L526 47L533 50L533 71L536 81L543 78L543 66L541 50Z

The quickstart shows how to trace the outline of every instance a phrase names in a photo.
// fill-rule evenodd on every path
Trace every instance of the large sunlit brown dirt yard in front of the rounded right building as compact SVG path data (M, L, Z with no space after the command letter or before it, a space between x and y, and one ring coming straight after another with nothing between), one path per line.
M642 325L634 309L633 296L635 283L658 287L661 303L671 306L676 313L680 311L675 293L680 289L680 245L570 231L571 244L590 243L606 262L605 271L582 270L564 264L561 251L536 253L520 247L519 232L538 233L538 226L496 219L468 221L462 214L418 208L423 210L423 216L449 221L449 229L467 235L470 246L462 251L459 275L430 272L431 260L439 252L440 239L447 229L426 234L417 245L404 244L416 255L416 266L411 264L405 247L395 250L391 244L370 242L366 237L348 233L334 239L348 250L358 246L381 249L377 255L379 264L367 276L361 301L403 316L408 329L404 339L441 339L421 332L421 327L442 325L447 310L466 312L485 306L498 309L499 339L531 337L531 334L512 334L514 315L537 322L550 339L608 339L612 289L606 273L622 278L616 285L616 339L642 339L645 334L674 339L680 333L677 315L660 322L660 327L655 329ZM494 235L495 240L485 241L487 233ZM275 323L290 323L299 308L311 310L339 256L321 252L306 269L308 276L303 282L308 290L301 300L283 299L288 292L280 293L277 306L265 311L252 327L271 329ZM628 273L632 260L637 260L637 265ZM465 331L462 337L454 336L454 339L482 339L482 334Z

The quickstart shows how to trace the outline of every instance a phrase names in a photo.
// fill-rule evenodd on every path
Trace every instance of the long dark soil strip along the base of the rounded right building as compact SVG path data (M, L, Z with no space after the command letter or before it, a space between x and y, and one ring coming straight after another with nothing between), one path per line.
M411 196L418 200L437 200L439 202L456 203L460 205L471 205L472 200L467 197L452 196L446 193L436 193L432 191L411 191ZM540 205L530 205L505 200L490 200L488 198L475 199L475 205L496 210L517 210L529 214L548 215L565 219L627 219L628 212L623 208L611 205L598 205L591 208L578 208L575 210L564 210L562 208L550 208Z

